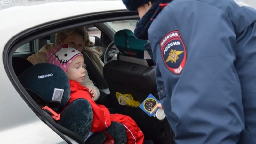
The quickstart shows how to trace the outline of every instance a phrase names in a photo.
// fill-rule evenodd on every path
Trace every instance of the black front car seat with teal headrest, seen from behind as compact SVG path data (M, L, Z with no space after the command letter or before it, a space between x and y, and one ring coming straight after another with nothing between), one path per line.
M127 34L124 34L126 32ZM137 53L137 56L143 58L141 55L145 49L143 50L141 45L138 46L140 49L136 49L136 44L142 44L140 42L141 40L138 40L139 42L137 42L134 35L134 39L132 38L132 35L130 30L116 32L114 40L115 44L118 49L122 49L120 51L123 53L125 51L130 51L130 53ZM128 38L133 39L134 44L127 46ZM122 41L125 44L116 43L117 40L119 42ZM136 49L136 51L133 52L132 49ZM139 107L120 105L115 95L116 92L131 94L133 99L140 103L142 103L150 93L158 99L155 68L132 62L113 60L105 64L103 72L109 87L114 111L131 116L145 134L145 139L151 139L156 144L161 143L164 139L164 123L155 117L149 117Z

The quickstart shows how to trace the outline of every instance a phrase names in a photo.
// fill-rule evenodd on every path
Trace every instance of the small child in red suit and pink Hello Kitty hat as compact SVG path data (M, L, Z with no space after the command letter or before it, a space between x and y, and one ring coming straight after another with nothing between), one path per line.
M68 44L64 44L62 46L55 46L47 53L46 58L48 63L59 66L67 74L71 93L66 106L78 98L84 98L89 101L93 112L92 132L104 131L110 126L111 121L115 121L123 124L125 127L127 144L143 144L144 134L131 117L121 114L110 115L110 112L104 105L96 104L92 100L88 88L80 84L85 77L85 70L83 68L84 58L82 53L75 48L69 47Z

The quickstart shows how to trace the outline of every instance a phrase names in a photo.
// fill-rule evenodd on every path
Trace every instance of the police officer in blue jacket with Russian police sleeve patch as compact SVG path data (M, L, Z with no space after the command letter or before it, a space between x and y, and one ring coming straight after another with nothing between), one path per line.
M256 144L255 9L239 0L122 1L139 12L134 34L150 42L175 142Z

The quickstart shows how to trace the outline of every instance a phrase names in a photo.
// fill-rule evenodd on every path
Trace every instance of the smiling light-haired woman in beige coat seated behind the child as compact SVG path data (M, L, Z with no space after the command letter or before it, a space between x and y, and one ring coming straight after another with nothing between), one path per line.
M73 29L64 30L56 33L55 35L55 43L58 45L68 44L70 47L76 48L79 52L82 52L83 47L87 41L87 31L85 27L78 27ZM28 57L28 61L30 61L33 65L37 63L47 63L46 54L49 50L51 50L56 44L47 44L42 47L39 52L32 54ZM86 65L84 64L84 68ZM88 73L85 69L85 78L81 83L83 86L86 86L92 99L94 101L98 100L100 96L99 89L94 86L93 82L89 79Z

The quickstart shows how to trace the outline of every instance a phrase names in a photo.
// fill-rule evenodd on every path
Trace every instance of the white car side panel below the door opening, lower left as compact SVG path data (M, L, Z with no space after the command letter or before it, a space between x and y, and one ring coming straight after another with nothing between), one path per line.
M2 58L2 54L0 56ZM0 139L3 144L61 144L66 143L44 124L23 101L0 65Z

